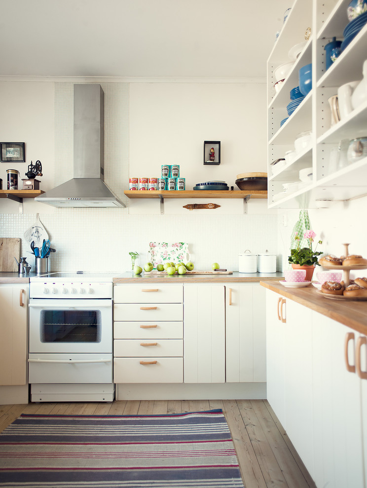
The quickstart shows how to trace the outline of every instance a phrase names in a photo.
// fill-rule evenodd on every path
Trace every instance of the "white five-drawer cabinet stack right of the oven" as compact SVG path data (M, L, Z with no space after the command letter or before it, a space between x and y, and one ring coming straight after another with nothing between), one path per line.
M183 285L115 285L114 383L182 383Z

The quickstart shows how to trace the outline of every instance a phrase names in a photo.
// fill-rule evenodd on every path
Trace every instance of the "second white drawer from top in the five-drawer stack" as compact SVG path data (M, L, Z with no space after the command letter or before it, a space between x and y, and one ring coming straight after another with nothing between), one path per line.
M115 303L114 320L183 320L182 303Z

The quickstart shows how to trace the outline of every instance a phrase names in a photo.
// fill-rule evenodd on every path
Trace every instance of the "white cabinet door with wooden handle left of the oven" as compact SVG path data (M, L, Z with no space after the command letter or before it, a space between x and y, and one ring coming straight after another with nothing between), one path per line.
M0 385L27 384L28 296L28 283L0 284Z

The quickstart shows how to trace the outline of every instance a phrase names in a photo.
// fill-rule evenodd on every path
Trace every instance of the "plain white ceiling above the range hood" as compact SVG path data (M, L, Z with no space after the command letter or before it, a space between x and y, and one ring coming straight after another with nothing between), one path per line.
M1 0L0 76L266 76L288 0Z

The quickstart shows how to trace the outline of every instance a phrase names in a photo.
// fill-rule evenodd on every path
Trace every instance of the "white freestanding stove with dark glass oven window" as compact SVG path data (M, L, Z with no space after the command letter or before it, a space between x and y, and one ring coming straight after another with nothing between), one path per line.
M31 401L112 401L112 282L30 281Z

